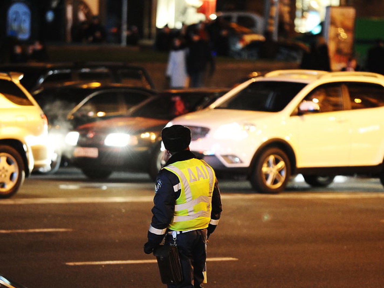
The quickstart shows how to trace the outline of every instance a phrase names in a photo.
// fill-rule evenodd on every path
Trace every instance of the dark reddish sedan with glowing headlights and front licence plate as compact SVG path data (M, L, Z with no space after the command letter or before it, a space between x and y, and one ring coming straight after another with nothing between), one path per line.
M228 89L171 90L134 107L127 116L108 117L90 111L86 103L70 118L89 123L69 132L71 162L91 179L106 179L113 171L147 172L160 169L161 130L176 116L207 107ZM107 116L107 119L106 119Z

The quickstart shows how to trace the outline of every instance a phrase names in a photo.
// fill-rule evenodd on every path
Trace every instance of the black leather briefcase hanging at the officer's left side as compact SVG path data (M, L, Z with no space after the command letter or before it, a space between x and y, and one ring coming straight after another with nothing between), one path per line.
M178 284L183 279L177 246L159 245L153 251L163 284Z

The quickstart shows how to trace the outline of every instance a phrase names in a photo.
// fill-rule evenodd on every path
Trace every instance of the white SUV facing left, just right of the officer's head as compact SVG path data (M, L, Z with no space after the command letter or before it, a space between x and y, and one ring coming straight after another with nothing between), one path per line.
M278 70L169 124L188 126L191 151L218 173L245 174L258 192L276 193L299 173L313 187L354 174L384 185L383 115L380 74Z

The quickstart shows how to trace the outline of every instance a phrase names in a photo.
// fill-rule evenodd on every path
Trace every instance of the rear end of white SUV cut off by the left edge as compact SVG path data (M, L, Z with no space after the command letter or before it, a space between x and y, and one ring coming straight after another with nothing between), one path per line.
M50 166L47 119L21 77L0 73L0 198L15 194L33 169Z

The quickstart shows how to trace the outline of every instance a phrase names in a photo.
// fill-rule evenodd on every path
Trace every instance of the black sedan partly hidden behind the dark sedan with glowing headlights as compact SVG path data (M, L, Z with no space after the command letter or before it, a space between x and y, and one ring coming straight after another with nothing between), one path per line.
M126 115L129 109L142 101L154 96L153 90L146 88L132 88L126 84L118 83L77 83L58 88L46 88L33 94L41 109L45 112L50 124L52 163L50 171L54 173L60 167L61 156L64 149L66 133L78 123L67 119L68 113L79 103L86 99L84 108L93 106L96 115L108 113L109 115ZM78 114L77 121L89 116Z

